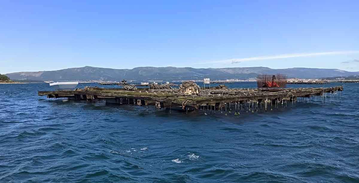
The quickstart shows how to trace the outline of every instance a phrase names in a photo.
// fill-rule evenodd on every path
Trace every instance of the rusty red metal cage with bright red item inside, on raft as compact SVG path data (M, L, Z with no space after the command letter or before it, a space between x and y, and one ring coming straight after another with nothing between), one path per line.
M287 75L274 74L274 75L258 75L257 86L261 90L273 90L285 88L287 84Z

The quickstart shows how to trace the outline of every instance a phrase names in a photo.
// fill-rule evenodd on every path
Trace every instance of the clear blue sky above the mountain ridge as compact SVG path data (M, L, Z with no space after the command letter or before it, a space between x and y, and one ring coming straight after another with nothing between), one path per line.
M82 66L359 71L358 7L358 0L4 0L0 73Z

